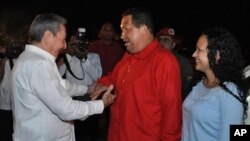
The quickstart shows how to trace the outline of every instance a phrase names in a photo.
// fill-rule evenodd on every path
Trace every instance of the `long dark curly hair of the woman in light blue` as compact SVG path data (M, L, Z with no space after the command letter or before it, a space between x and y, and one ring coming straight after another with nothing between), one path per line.
M209 28L202 32L208 41L209 65L215 76L220 80L220 86L230 94L233 94L223 82L233 82L237 85L240 101L244 106L244 118L247 109L247 85L243 79L244 59L237 39L224 28ZM220 59L216 62L217 51ZM234 94L235 95L235 94Z

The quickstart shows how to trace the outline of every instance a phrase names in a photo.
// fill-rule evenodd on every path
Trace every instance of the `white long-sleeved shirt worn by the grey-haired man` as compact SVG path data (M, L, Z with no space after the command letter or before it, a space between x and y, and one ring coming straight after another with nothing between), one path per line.
M75 119L102 113L102 100L75 101L87 86L70 84L58 72L55 57L26 45L13 68L14 141L75 141Z

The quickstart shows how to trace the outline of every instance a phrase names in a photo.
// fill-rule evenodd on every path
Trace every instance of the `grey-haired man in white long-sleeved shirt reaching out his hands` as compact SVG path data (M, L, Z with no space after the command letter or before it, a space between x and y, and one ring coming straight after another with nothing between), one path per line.
M62 79L56 64L67 48L66 19L54 13L34 18L29 44L12 70L14 141L75 141L73 120L100 114L113 103L110 92L100 100L78 101L73 96L91 92L87 85Z

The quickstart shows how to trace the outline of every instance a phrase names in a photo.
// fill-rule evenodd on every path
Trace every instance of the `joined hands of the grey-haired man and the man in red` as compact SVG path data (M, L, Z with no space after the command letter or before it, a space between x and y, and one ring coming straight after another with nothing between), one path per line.
M113 94L114 86L104 86L102 84L93 84L88 87L88 93L90 94L91 100L101 99L104 103L104 107L109 106L114 102L115 95Z

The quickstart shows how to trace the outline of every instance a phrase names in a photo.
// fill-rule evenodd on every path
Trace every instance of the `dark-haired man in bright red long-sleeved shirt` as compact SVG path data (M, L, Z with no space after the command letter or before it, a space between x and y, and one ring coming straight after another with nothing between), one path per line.
M115 86L108 141L179 141L182 99L176 58L154 39L146 9L128 9L120 26L127 52L96 86Z

